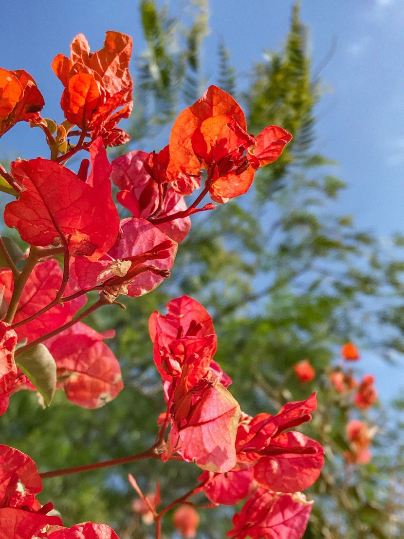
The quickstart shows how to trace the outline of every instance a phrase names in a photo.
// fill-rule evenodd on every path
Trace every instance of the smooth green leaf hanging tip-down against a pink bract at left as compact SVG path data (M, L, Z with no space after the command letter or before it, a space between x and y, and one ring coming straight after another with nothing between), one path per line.
M30 379L49 406L56 389L56 363L44 344L20 354L16 359L17 366Z

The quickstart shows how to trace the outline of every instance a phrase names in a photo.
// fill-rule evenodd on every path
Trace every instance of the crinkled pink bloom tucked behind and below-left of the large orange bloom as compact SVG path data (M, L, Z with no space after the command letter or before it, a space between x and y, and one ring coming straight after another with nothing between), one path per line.
M112 179L120 189L116 195L117 201L124 208L127 208L134 217L148 219L155 214L159 207L159 192L161 192L162 201L158 217L165 217L172 213L186 210L184 197L178 195L167 183L163 182L163 172L166 177L166 165L165 168L157 167L155 163L150 167L151 157L154 157L154 154L139 150L130 151L128 154L114 159L112 162ZM153 171L155 174L151 175L150 172ZM163 185L159 187L159 184ZM169 238L177 241L177 243L185 238L190 227L191 219L189 217L157 225L159 230Z

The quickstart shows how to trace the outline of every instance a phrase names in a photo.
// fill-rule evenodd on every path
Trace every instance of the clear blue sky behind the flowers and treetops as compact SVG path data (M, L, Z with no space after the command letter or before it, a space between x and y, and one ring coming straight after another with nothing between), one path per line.
M204 71L213 75L211 66L223 40L241 85L246 84L252 65L262 60L263 50L281 47L292 3L212 1ZM169 5L173 12L184 12L190 2ZM44 94L44 115L61 121L62 88L51 71L53 57L60 52L67 55L72 38L79 32L86 35L92 50L99 49L106 30L129 33L135 53L141 52L136 6L136 0L5 2L0 65L28 71ZM338 161L335 174L349 185L336 211L352 213L358 226L379 234L388 247L389 234L404 232L404 2L302 0L301 17L310 29L313 66L321 70L324 88L317 109L318 148ZM10 160L42 152L47 157L41 132L35 131L21 122L0 141L0 154ZM365 370L377 372L380 389L386 395L389 390L391 396L391 382L398 378L398 372L371 354ZM394 383L395 387L399 388L398 384Z

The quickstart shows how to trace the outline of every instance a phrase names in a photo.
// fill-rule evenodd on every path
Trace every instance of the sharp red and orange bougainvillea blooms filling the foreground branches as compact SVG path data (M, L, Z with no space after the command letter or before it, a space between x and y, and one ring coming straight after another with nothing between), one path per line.
M121 371L104 342L114 332L97 333L82 319L102 306L123 307L120 295L136 298L170 277L190 217L215 208L212 202L200 205L205 196L225 203L245 193L255 171L276 160L291 140L277 126L248 134L238 103L210 86L178 116L165 148L132 151L109 163L106 147L129 140L117 123L133 107L131 49L129 36L110 31L102 49L92 53L79 34L69 58L54 58L53 71L64 86L60 125L40 115L44 99L29 74L0 69L0 136L26 121L43 130L50 148L49 159L17 160L10 172L0 165L9 183L5 190L15 197L6 205L4 223L27 244L25 253L15 245L11 254L11 240L0 238L6 261L0 268L0 413L20 389L37 391L44 405L56 389L88 408L115 398L123 388ZM89 158L74 172L66 163L80 150ZM119 189L117 201L130 212L122 220L111 179ZM184 197L195 190L199 194L187 205ZM98 295L90 306L88 292ZM301 537L311 502L298 491L317 479L323 450L293 429L310 420L315 395L287 403L275 415L250 417L214 361L217 337L203 306L182 296L170 301L168 314L153 313L149 327L166 410L156 443L133 460L196 462L204 472L193 493L204 492L213 503L233 505L250 495L233 519L231 537ZM58 471L42 477L52 475ZM130 481L139 493L135 479ZM33 461L1 446L2 537L117 537L105 524L64 528L58 516L48 514L52 504L40 506L41 489ZM160 513L158 488L141 501L136 510L156 522L180 505L175 526L185 537L194 536L198 515L185 498Z

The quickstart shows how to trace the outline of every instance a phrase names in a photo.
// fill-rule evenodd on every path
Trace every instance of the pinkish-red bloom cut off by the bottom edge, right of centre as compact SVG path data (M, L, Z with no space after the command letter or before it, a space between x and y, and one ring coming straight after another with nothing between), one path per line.
M233 516L234 528L226 533L234 539L301 539L313 502L299 492L281 494L259 488L240 513Z

